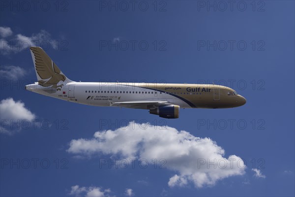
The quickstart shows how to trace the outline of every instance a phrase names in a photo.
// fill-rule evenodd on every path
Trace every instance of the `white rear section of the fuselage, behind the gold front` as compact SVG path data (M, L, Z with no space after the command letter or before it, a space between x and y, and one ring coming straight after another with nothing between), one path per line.
M156 84L155 88L164 85ZM60 91L36 83L26 86L26 89L49 97L94 106L117 106L112 103L130 100L165 100L182 108L191 108L189 104L175 96L145 88L144 84L139 83L71 82L63 86Z

